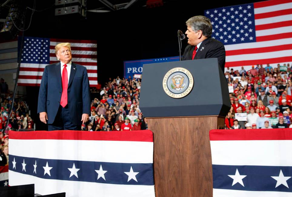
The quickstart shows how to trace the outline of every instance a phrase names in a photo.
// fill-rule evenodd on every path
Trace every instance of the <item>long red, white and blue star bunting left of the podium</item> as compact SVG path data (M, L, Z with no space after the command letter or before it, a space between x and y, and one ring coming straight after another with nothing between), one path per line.
M8 175L43 195L155 197L153 133L9 131Z

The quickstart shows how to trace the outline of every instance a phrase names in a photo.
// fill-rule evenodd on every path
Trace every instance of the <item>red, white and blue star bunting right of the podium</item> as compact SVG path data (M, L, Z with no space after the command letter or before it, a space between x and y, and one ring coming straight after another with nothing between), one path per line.
M289 128L211 130L213 196L292 196L291 142Z

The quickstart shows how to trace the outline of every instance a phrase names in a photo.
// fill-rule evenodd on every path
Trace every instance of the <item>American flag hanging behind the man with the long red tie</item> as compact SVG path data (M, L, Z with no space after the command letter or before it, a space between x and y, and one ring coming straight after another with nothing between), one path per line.
M20 40L18 49L20 49ZM59 62L55 46L59 43L71 44L72 62L87 68L89 84L97 86L97 41L65 40L40 37L25 37L22 49L18 86L39 86L46 65Z

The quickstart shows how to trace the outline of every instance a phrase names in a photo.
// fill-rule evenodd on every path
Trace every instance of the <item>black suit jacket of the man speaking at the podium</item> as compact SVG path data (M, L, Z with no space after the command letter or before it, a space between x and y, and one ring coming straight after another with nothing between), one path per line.
M184 54L181 57L182 60L191 60L193 56L195 46L187 45L184 50ZM225 47L224 45L213 38L207 38L203 40L200 47L197 50L194 60L205 58L218 58L218 63L224 73L225 66Z

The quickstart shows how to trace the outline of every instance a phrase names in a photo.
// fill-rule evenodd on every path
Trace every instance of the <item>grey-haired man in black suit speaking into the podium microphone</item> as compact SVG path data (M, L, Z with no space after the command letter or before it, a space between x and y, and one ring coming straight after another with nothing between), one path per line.
M213 38L212 24L205 16L194 16L187 20L187 44L182 60L196 60L205 58L218 58L218 63L224 72L225 48L224 45Z

